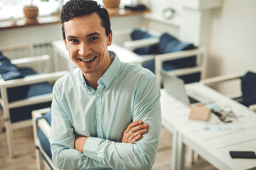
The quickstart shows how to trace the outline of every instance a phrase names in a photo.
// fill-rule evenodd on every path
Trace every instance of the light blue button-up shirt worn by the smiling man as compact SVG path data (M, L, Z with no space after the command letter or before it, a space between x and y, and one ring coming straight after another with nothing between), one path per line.
M97 90L80 69L53 87L50 133L53 162L59 169L151 169L161 132L160 91L156 77L135 64L114 59ZM129 56L127 56L129 57ZM149 124L134 144L122 143L132 121ZM83 153L74 149L75 134L89 137Z

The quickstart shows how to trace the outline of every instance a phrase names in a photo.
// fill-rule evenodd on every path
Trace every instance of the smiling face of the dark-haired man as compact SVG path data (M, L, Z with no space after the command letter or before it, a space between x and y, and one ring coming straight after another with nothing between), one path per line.
M102 76L111 64L107 45L111 45L112 32L106 35L97 13L79 16L64 23L65 47L71 60L87 74Z

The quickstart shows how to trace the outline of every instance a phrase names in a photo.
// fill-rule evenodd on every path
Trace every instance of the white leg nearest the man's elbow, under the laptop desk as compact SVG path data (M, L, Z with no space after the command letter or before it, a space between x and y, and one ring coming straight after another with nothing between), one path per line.
M185 169L185 154L186 154L186 145L182 142L182 135L180 133L177 133L177 164L176 169Z

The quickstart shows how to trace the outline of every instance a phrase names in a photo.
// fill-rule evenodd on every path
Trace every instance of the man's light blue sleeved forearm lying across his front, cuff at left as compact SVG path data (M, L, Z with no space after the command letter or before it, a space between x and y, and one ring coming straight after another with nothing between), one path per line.
M135 144L113 142L89 137L83 154L105 164L110 169L151 169L154 163L159 137L150 142Z

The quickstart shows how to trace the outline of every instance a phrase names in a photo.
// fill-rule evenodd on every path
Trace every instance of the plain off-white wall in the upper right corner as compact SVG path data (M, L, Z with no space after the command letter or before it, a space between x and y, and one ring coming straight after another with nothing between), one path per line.
M213 11L208 77L256 69L255 6L255 0L224 0Z

